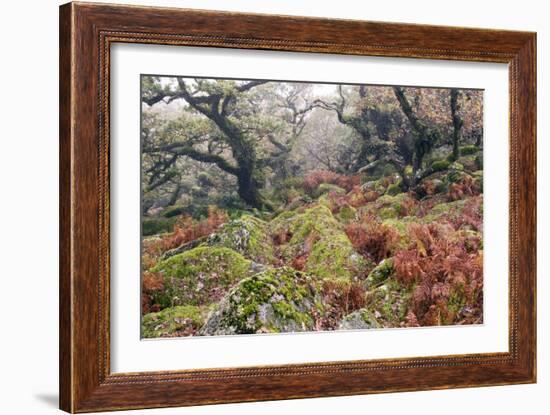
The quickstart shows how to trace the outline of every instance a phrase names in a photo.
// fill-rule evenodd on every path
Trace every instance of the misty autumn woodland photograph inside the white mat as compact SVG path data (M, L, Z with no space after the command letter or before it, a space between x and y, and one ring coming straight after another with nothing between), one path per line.
M140 82L142 338L483 323L483 90Z

